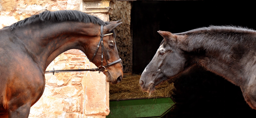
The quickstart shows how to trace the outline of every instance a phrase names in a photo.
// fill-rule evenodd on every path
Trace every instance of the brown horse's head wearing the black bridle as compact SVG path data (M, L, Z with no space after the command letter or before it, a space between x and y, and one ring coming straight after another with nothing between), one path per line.
M91 40L90 42L91 45L89 46L89 53L86 53L89 60L92 63L94 63L97 67L105 68L104 66L110 65L105 68L106 71L104 71L103 73L106 75L106 81L111 82L111 84L117 84L123 78L123 65L121 63L113 65L111 64L112 62L119 60L115 35L113 34L114 28L116 28L119 24L122 23L119 23L119 21L112 21L109 23L107 22L106 25L103 26L103 35L105 34L105 36L102 37L103 47L101 46L100 36L95 36L95 39ZM97 45L99 46L98 50L96 49ZM96 55L94 56L94 54Z

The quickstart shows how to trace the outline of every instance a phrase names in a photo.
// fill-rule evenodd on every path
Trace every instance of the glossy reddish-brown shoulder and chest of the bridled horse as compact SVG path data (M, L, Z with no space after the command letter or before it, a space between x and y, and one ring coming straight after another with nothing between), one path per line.
M45 87L44 73L33 59L12 43L9 36L0 37L0 112L16 102L31 100L34 104L42 96ZM28 89L29 88L29 89ZM8 93L13 93L9 95ZM26 95L21 95L26 93ZM4 107L3 107L4 106Z

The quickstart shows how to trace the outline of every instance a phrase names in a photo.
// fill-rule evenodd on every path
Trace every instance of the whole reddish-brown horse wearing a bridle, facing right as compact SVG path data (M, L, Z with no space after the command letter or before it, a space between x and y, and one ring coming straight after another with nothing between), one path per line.
M44 11L0 29L0 118L28 118L43 94L46 67L69 49L83 51L96 66L109 65L106 81L120 82L123 66L111 64L120 60L113 31L120 23L63 10Z

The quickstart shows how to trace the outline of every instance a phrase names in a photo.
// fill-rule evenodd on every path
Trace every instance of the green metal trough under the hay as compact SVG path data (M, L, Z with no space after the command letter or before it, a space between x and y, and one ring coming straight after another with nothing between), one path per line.
M161 118L174 104L172 98L110 101L110 113L106 118Z

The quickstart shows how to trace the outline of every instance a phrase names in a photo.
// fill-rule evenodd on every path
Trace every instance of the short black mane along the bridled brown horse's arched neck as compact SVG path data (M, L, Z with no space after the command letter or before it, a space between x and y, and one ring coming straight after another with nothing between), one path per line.
M62 22L62 21L79 21L89 23L92 22L94 24L106 25L106 23L99 19L96 16L88 15L86 13L75 11L75 10L60 10L60 11L44 11L37 15L32 15L24 20L20 20L16 23L13 23L10 26L12 30L15 27L23 27L26 24L34 23L34 22ZM4 28L7 28L4 27Z

